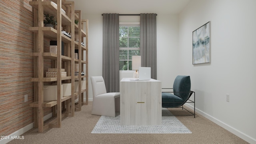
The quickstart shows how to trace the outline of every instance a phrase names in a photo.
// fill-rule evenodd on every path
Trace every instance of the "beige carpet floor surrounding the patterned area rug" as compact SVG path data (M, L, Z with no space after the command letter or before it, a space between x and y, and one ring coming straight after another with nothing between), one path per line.
M168 108L172 114L184 114L181 109ZM196 113L176 116L192 134L92 134L101 116L91 114L92 102L76 111L74 117L62 120L61 128L49 128L38 133L32 128L8 144L249 144L214 122Z

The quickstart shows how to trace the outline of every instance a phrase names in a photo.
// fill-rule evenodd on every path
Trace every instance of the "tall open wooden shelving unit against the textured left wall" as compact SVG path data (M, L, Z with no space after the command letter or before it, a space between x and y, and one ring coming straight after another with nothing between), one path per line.
M34 52L30 56L34 58L34 102L30 107L34 108L34 127L38 128L38 132L43 132L47 128L60 128L62 118L65 116L74 116L75 112L75 96L78 96L78 110L83 105L83 93L86 93L87 103L87 32L88 20L86 21L86 32L82 30L81 13L77 14L74 10L74 2L65 0L32 0L29 2L34 8L34 26L29 30L34 32L35 46ZM56 28L44 27L44 14L54 16L57 20ZM75 19L79 20L79 24L75 24ZM62 33L62 29L71 34L71 38ZM78 34L79 41L75 41L75 34ZM86 37L85 46L81 46L84 37ZM44 52L44 40L57 41L57 54ZM62 42L64 42L64 55L62 55ZM75 59L74 51L79 50L79 59ZM83 60L84 50L86 52L86 60ZM44 60L52 60L52 68L57 68L57 77L44 77ZM75 64L79 64L78 76L75 76ZM83 64L86 64L86 75L81 76ZM61 69L67 72L66 77L61 76ZM86 80L86 90L81 90L81 80ZM79 81L79 91L75 92L75 80ZM57 100L44 101L44 84L57 84ZM62 83L71 83L71 95L62 98ZM44 121L44 108L52 108L52 120Z

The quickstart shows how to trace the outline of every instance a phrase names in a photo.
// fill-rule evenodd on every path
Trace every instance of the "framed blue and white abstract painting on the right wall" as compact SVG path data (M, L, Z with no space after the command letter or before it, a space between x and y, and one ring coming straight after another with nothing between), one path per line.
M211 21L192 32L193 64L211 62Z

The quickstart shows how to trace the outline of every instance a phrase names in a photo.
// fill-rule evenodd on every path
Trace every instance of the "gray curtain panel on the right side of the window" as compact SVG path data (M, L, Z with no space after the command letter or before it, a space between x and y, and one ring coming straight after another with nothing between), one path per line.
M140 14L141 66L151 67L151 78L156 79L156 14Z

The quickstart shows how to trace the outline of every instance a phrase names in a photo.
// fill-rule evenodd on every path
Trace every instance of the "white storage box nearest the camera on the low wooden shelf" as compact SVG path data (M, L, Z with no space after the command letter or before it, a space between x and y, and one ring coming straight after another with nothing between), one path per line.
M60 87L61 90L61 98L62 98L62 86ZM49 85L44 85L44 101L52 101L52 100L57 100L57 85L54 84L49 84Z

